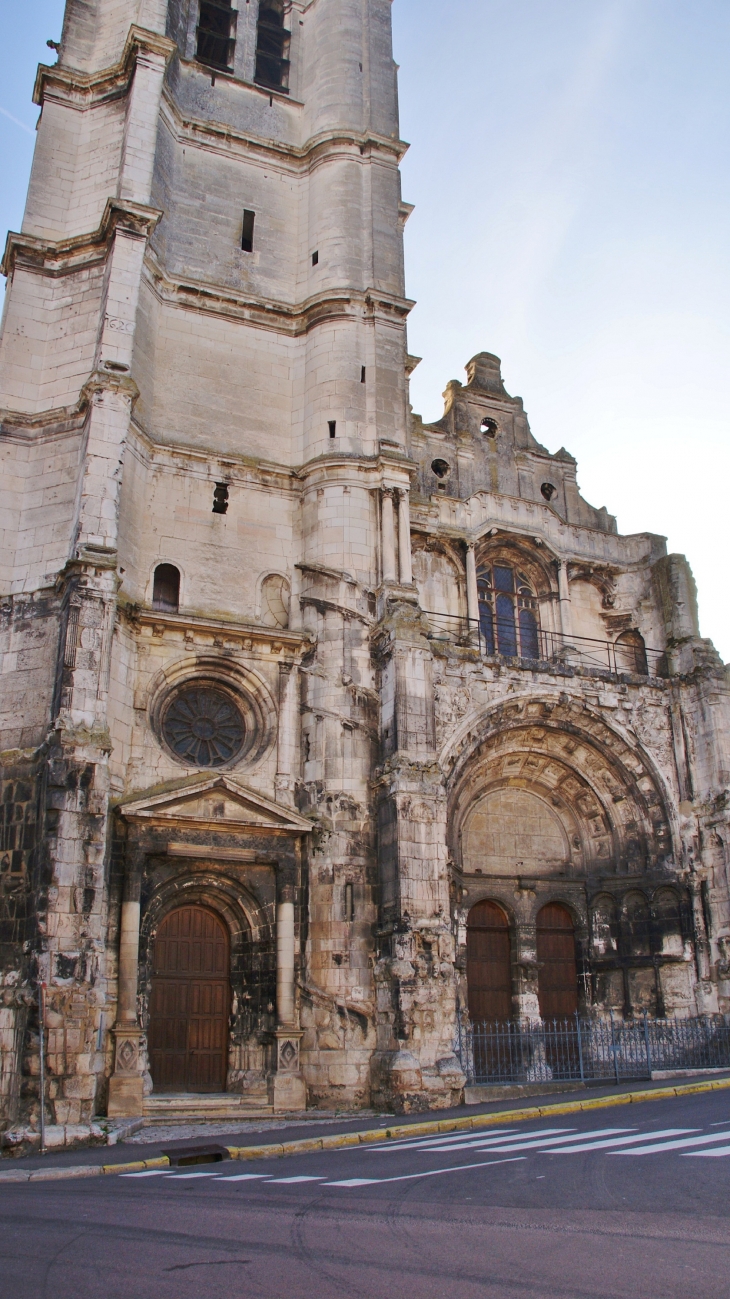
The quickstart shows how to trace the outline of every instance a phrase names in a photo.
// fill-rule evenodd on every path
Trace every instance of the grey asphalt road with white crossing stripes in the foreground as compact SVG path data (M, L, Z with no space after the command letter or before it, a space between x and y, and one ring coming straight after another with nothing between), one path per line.
M0 1299L727 1299L730 1095L0 1187Z

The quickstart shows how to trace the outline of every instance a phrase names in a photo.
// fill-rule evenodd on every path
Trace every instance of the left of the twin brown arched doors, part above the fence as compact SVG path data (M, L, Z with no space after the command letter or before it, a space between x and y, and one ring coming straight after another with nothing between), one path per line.
M472 1024L512 1018L509 921L494 902L478 902L469 912L466 985Z

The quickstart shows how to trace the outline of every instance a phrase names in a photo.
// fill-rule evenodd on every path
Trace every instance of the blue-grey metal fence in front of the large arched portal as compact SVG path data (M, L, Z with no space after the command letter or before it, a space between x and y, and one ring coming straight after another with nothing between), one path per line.
M621 1082L662 1069L730 1069L730 1017L460 1024L457 1053L470 1083Z

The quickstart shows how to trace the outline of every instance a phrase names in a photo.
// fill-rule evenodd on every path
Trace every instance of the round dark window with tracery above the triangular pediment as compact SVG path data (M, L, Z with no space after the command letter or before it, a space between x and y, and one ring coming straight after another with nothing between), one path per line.
M243 748L245 724L226 691L184 686L170 700L162 735L175 757L192 766L223 766Z

